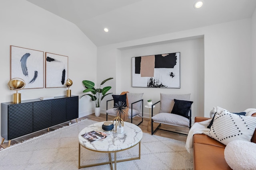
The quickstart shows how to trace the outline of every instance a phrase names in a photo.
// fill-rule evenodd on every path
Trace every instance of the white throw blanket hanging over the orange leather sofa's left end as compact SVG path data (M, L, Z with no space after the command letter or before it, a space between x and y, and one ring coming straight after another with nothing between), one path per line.
M186 141L186 149L189 153L193 153L193 135L194 134L206 134L210 129L207 126L210 124L212 119L208 119L206 121L196 122L191 127L190 131L188 132L188 137Z

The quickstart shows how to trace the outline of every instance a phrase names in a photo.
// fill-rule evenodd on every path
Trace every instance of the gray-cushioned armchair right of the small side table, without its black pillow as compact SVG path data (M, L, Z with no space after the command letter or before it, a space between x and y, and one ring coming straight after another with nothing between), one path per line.
M186 128L191 128L191 107L189 110L189 118L183 117L181 115L173 114L171 113L173 106L174 106L174 99L176 100L190 100L190 94L163 94L160 93L160 101L154 103L152 105L152 115L151 115L151 135L153 135L156 130L164 130L164 131L169 131L166 129L160 129L161 124L166 124L166 125L175 125L179 127L186 127ZM160 110L159 113L156 115L153 115L153 106L156 104L160 104ZM156 129L153 127L153 122L155 123L160 123ZM180 133L176 131L170 131L174 133ZM180 133L184 134L184 133ZM187 134L184 134L187 135Z

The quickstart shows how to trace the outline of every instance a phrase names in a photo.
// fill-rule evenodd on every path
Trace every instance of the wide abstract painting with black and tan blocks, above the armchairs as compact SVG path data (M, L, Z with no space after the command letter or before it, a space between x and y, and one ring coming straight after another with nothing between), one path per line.
M132 57L132 87L180 88L180 53Z

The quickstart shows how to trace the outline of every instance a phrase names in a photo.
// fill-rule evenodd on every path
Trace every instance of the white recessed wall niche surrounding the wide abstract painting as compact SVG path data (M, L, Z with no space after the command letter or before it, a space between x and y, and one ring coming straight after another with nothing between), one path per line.
M132 61L131 57L139 57L145 55L156 55L164 53L180 52L180 89L176 88L138 88L132 87ZM120 84L120 94L122 91L132 93L144 93L144 105L148 99L152 102L160 100L160 93L166 94L188 94L191 93L190 100L198 101L203 98L204 89L204 41L203 38L180 41L174 43L164 43L161 45L150 45L148 47L140 47L122 50L120 54L120 75L116 80ZM203 101L201 101L203 102ZM157 105L159 106L159 105ZM193 113L202 113L200 103L193 104ZM157 109L157 108L156 108ZM155 110L156 110L155 109ZM149 113L149 109L144 109L144 113ZM155 113L155 112L154 112ZM148 114L146 114L148 117ZM201 116L203 116L201 114Z

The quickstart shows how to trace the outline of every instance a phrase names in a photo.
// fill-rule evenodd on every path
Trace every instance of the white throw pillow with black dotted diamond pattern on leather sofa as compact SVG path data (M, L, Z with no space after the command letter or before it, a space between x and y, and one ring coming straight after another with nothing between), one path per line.
M236 115L227 110L216 113L209 137L227 145L234 140L249 141L256 128L256 117Z

